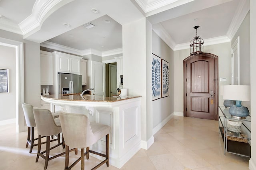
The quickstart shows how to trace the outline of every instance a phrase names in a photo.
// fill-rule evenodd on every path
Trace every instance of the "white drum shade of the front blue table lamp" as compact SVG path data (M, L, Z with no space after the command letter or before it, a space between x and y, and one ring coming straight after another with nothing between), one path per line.
M250 101L250 86L242 86L242 85L223 86L223 99Z

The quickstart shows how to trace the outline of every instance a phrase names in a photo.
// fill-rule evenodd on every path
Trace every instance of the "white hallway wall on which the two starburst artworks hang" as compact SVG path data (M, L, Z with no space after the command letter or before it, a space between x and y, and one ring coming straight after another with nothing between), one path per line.
M170 64L169 96L153 101L153 127L156 127L174 112L174 62L172 49L154 31L152 31L152 53Z

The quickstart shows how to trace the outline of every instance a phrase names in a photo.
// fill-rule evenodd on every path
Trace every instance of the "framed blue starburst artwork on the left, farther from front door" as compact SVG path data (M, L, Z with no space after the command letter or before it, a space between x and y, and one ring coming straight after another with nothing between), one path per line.
M161 98L161 58L152 54L152 100Z

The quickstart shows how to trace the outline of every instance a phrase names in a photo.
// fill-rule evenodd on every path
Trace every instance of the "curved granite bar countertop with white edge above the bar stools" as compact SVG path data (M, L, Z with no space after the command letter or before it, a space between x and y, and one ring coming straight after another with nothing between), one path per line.
M128 104L136 100L141 100L141 96L126 96L121 98L111 98L96 95L80 94L50 94L41 96L41 99L48 103L69 105L69 106L88 106L88 107L114 107Z

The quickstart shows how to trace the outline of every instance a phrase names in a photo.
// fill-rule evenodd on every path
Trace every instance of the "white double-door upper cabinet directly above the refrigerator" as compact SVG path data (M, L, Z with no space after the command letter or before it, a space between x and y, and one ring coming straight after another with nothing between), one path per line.
M52 54L54 57L57 57L58 72L80 74L80 59L82 59L82 57L60 53L57 51L52 52Z

